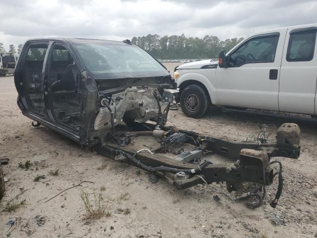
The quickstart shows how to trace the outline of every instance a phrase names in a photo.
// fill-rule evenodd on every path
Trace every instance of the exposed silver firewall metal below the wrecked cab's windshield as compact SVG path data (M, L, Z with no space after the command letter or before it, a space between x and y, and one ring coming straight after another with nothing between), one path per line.
M101 107L94 128L95 130L111 128L111 117L113 117L113 126L119 124L123 118L135 122L161 120L164 124L163 117L167 116L168 106L173 101L173 94L177 92L178 90L164 89L161 94L157 88L131 87L111 96L101 95Z

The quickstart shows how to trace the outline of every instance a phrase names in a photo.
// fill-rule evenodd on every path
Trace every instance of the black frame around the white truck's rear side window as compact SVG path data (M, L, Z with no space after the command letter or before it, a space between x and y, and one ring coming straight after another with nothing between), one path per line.
M314 32L314 39L313 39L313 51L311 52L310 58L306 60L298 60L298 59L291 59L290 58L290 52L291 52L291 44L293 43L293 35L297 34L303 34L303 32ZM286 52L286 61L288 62L308 62L314 59L315 55L315 46L316 46L316 35L317 35L317 27L306 27L306 28L298 28L298 29L293 29L289 33L289 40L288 40L288 45L287 45L287 52Z

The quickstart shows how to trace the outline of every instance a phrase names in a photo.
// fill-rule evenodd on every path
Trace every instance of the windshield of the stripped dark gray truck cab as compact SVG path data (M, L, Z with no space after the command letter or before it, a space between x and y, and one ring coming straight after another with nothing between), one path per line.
M153 77L168 71L139 47L74 44L86 68L97 78Z

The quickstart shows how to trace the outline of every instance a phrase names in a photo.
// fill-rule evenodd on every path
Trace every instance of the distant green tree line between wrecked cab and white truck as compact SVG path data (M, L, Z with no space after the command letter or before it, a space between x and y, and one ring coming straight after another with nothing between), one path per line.
M216 36L206 35L204 38L180 36L147 35L131 39L131 43L150 53L157 59L206 59L218 58L220 50L229 51L243 38L231 38L221 41Z

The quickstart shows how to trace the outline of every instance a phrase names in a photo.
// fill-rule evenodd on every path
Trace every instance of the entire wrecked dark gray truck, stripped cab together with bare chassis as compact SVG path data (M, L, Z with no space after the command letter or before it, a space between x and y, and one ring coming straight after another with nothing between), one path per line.
M148 171L152 182L160 176L180 189L226 182L227 190L236 192L235 199L247 199L252 208L262 204L265 186L275 176L278 189L272 207L281 196L282 164L271 158L300 155L296 124L283 124L276 143L267 139L265 126L251 141L165 126L177 93L174 79L128 40L29 40L14 82L18 106L35 120L32 125L43 124L100 154Z

